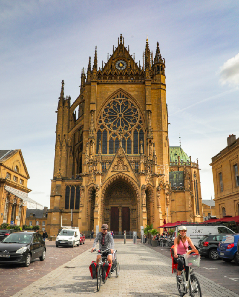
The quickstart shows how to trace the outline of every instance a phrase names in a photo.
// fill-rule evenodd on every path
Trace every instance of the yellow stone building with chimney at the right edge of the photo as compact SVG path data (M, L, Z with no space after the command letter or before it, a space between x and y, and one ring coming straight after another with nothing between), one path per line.
M214 201L217 218L239 215L239 138L229 135L227 146L212 157Z

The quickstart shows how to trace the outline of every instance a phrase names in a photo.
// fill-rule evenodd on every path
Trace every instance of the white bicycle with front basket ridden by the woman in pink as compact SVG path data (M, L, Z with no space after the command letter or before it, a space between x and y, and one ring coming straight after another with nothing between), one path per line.
M182 271L182 281L178 281L177 276L177 288L180 296L184 296L187 294L187 290L189 290L189 294L191 297L202 297L201 287L199 281L195 275L193 270L197 269L200 265L200 255L178 255L178 258L185 259L185 265L189 266L188 280L186 281L185 270ZM197 268L196 268L197 267Z

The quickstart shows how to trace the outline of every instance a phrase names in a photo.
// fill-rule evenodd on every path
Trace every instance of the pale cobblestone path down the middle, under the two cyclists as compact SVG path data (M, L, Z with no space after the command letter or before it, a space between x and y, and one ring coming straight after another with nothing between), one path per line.
M131 296L131 297L176 297L178 295L175 275L171 273L171 259L151 248L129 241L117 241L117 261L120 264L119 277L115 273L96 290L89 265L95 254L83 252L68 263L49 272L39 280L20 290L13 297L52 296ZM65 267L68 268L65 268ZM207 277L197 274L203 297L239 297ZM189 296L189 295L188 295Z

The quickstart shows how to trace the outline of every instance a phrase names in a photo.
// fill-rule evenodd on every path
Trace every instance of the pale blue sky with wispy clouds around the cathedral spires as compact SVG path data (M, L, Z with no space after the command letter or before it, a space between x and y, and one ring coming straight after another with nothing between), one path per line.
M142 64L149 46L166 60L170 146L199 160L202 198L214 195L211 158L239 137L238 1L0 0L1 147L21 149L29 197L50 206L61 81L73 102L81 68L98 66L119 35Z

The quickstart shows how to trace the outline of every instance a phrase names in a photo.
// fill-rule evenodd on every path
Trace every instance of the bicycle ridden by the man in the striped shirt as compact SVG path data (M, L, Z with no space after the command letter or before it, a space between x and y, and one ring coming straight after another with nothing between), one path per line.
M94 251L101 254L101 258L99 259L99 263L97 264L97 267L96 267L96 270L97 270L96 283L97 283L97 291L99 291L100 287L101 287L101 281L102 281L103 265L107 261L107 257L104 256L103 254L110 252L110 249L105 249L104 251L95 249ZM117 259L116 259L116 252L117 252L116 250L114 250L114 252L113 252L113 256L112 256L112 262L113 262L112 267L113 268L111 267L111 270L109 271L109 274L107 276L108 278L111 277L111 273L113 273L113 272L116 272L116 277L119 276L119 262L117 262ZM103 282L105 283L106 280L107 280L107 278L103 279Z

